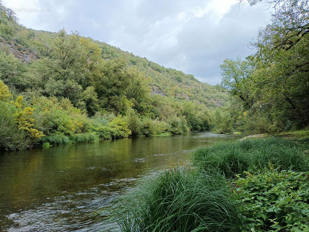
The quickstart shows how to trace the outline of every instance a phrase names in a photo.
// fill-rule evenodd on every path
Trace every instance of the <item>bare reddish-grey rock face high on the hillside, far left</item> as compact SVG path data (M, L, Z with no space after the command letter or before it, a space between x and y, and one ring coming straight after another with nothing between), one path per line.
M37 60L36 54L31 53L27 49L20 48L18 46L8 44L6 42L0 42L0 49L6 50L13 54L16 58L19 58L22 62L30 63L31 60Z

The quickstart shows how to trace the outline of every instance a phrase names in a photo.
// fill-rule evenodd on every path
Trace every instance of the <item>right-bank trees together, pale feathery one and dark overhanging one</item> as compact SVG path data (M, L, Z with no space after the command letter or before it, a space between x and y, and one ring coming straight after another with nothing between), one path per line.
M309 123L309 5L305 0L265 2L276 10L252 43L256 53L245 61L224 60L218 87L247 114L233 114L235 125L274 135Z

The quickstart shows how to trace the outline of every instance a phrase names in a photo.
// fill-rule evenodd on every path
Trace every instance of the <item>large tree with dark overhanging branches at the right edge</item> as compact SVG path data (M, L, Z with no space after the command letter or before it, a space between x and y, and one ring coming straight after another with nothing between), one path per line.
M256 106L272 108L278 117L309 122L309 6L305 0L266 1L276 11L253 45L256 54L252 86ZM255 3L251 1L251 3ZM264 93L264 94L262 94Z

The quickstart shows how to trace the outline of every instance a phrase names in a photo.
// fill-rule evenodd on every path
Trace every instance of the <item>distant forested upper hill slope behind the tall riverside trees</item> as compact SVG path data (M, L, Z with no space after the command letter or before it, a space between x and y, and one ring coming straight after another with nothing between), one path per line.
M50 56L50 47L57 39L58 33L27 29L16 22L14 15L11 16L11 20L6 19L7 15L1 16L0 45L2 51L6 54L13 54L23 62L32 62ZM195 101L198 104L205 103L210 108L226 104L225 94L218 92L209 84L198 81L193 75L165 68L145 57L135 56L104 42L87 39L98 45L102 58L105 60L122 59L121 62L124 62L126 67L136 67L145 74L145 77L150 77L149 85L152 94L157 93L177 100Z

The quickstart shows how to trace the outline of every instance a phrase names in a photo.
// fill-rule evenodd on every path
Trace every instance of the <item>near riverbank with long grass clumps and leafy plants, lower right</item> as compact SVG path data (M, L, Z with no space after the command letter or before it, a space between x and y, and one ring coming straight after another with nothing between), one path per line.
M293 141L249 139L193 154L195 168L141 180L111 212L119 231L308 231L308 156Z

